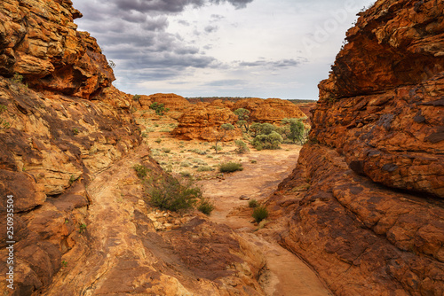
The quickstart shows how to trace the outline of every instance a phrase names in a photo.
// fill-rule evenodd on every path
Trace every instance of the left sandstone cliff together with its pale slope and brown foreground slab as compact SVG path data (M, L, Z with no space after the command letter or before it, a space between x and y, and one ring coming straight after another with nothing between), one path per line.
M76 31L80 16L69 0L0 2L0 290L262 295L264 262L233 231L197 217L156 232L132 166L162 169L140 146L136 101ZM8 195L14 290L4 278Z

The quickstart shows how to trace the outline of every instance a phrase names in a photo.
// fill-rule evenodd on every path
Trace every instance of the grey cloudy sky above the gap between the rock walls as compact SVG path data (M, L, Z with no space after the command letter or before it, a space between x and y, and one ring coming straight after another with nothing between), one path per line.
M375 0L73 0L131 94L317 99Z

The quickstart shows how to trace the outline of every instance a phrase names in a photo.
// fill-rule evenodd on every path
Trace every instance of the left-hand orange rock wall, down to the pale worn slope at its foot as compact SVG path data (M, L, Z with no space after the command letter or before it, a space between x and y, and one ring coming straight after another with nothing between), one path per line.
M66 0L0 2L0 272L12 195L16 295L51 283L87 215L91 176L141 143L131 97L75 30L79 16Z

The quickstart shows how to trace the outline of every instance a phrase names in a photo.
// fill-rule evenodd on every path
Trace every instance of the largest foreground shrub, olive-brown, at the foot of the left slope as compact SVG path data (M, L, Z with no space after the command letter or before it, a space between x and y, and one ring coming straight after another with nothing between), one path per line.
M165 176L148 190L151 206L177 212L192 208L197 199L202 199L202 191L193 183L181 184L171 176Z

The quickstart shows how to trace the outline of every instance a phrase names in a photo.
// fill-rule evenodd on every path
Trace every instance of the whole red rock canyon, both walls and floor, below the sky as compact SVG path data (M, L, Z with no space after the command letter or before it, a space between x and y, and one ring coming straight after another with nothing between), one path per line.
M319 101L301 108L123 93L80 17L70 0L0 3L2 230L8 200L14 209L12 237L0 233L4 295L444 294L442 1L360 12ZM194 155L186 147L209 154L237 108L254 121L303 118L309 139L238 156L234 129L206 161L245 169L199 175L210 216L149 206L133 167L178 173L162 161ZM266 205L266 222L251 223L241 195Z

